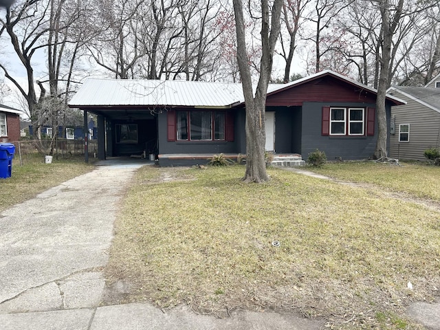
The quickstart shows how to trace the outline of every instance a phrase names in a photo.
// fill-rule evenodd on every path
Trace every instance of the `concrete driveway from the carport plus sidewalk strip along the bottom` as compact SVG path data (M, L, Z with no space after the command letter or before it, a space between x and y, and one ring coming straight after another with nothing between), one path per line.
M0 214L0 329L323 329L292 314L201 316L148 304L100 306L113 221L144 159L100 163ZM151 163L150 163L151 164Z

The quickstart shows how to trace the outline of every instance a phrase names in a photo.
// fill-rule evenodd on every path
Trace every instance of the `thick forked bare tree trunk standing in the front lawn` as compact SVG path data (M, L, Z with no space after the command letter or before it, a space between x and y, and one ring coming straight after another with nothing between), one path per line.
M243 3L233 0L236 21L237 61L246 104L246 182L268 181L265 167L265 104L276 40L280 32L280 17L283 0L274 0L272 10L267 0L261 0L261 46L259 82L255 94L248 52L246 50L245 19Z

